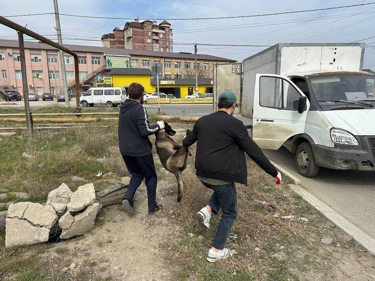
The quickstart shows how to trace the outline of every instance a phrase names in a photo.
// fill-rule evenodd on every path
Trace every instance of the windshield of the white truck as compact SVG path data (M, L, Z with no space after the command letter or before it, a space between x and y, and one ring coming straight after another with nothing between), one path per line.
M310 77L309 80L323 110L353 105L356 109L375 108L375 75L327 74ZM332 108L333 105L335 107Z

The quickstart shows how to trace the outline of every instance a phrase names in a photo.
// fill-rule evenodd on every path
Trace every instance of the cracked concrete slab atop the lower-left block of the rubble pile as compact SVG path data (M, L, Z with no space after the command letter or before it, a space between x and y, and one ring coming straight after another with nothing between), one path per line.
M42 226L51 229L51 227L57 222L58 217L55 209L53 209L51 205L43 206L39 203L29 203L23 215L23 219L28 220L35 226Z

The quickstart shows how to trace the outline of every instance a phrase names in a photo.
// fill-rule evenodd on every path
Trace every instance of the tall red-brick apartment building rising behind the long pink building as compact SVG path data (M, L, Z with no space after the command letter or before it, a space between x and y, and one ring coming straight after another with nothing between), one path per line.
M162 21L127 22L124 29L116 27L113 33L102 36L102 46L131 50L173 52L173 34L170 23Z

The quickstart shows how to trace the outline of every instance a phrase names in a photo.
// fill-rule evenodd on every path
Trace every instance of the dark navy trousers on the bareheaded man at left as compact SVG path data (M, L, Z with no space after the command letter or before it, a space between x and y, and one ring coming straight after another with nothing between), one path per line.
M143 178L147 187L148 210L153 211L156 207L156 183L157 176L155 171L154 159L152 154L145 156L122 155L125 165L132 174L129 182L128 191L123 199L134 201L134 194L137 191Z

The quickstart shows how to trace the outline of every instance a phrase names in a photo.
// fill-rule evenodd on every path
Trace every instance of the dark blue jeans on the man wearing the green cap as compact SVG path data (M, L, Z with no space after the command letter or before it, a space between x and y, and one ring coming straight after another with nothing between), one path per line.
M212 189L214 193L208 202L214 214L218 214L220 209L223 212L220 220L218 230L212 246L216 249L222 250L225 246L230 229L237 218L237 191L234 183L224 185L212 185L203 182L206 188Z

